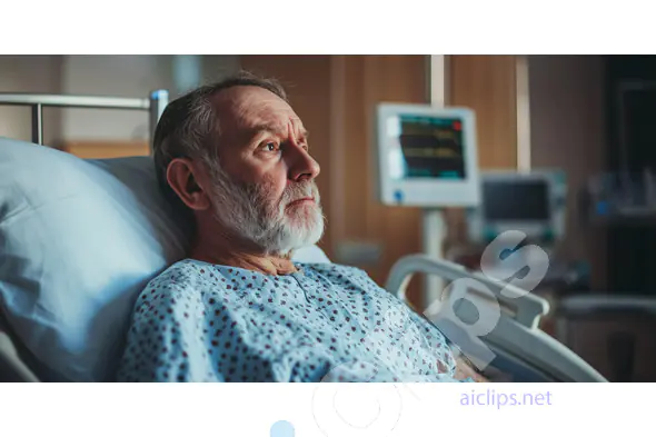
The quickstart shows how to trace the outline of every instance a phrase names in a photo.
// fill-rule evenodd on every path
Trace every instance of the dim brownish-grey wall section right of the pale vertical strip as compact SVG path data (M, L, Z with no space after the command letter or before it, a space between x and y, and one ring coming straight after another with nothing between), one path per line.
M606 157L603 60L598 56L531 56L529 64L531 167L567 171L567 239L561 255L588 259L593 284L605 287L603 232L580 220L577 193L604 171Z

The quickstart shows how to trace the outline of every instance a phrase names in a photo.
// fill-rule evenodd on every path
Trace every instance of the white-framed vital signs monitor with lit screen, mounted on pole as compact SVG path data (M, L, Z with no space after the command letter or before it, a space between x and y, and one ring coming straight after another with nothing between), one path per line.
M479 203L474 111L380 103L376 125L382 203L423 208Z

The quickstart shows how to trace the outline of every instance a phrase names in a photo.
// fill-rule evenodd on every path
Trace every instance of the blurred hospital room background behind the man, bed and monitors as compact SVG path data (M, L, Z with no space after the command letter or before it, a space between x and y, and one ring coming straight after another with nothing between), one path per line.
M543 329L612 380L656 380L656 57L0 56L0 92L173 99L240 69L279 79L311 132L321 248L380 285L423 236L420 210L374 193L376 103L437 95L476 112L481 171L564 172L565 236L535 290L551 302ZM30 140L30 109L0 107L0 136ZM148 155L148 136L147 112L44 110L46 145L82 158ZM465 212L446 224L445 256L476 268ZM414 281L410 299L419 292Z

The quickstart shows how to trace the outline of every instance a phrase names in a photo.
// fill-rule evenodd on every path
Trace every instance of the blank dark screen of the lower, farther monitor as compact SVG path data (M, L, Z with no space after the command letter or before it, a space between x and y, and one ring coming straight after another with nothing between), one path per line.
M546 180L495 180L483 183L483 215L488 221L550 220Z

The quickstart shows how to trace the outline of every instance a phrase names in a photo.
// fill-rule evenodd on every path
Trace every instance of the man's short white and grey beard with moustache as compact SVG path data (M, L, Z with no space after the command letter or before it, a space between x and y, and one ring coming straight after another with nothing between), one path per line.
M324 213L314 181L290 186L278 201L271 201L267 186L237 183L225 171L210 170L216 219L265 254L286 256L316 244L324 235ZM302 197L314 197L315 203L287 210L289 202Z

